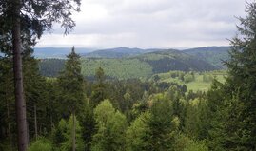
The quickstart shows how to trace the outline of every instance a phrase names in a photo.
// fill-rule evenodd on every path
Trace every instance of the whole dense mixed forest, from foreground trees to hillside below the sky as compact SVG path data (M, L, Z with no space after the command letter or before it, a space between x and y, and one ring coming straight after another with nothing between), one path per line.
M65 62L53 60L59 72L52 68L41 74L42 67L52 66L33 57L35 39L53 22L69 33L74 26L69 11L80 6L79 0L44 2L0 1L0 150L256 150L255 2L246 3L247 15L239 18L226 71L205 72L211 70L207 62L158 51L115 60L136 72L130 78L116 64L121 78L108 78L107 62L95 58L97 65L89 70L84 66L91 61L75 47ZM93 72L92 79L87 72ZM210 88L188 88L199 78Z

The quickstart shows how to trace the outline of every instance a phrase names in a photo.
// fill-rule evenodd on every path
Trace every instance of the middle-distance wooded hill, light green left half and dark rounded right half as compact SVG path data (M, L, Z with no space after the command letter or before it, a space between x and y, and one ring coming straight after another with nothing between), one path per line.
M40 62L40 72L44 76L57 76L65 60L45 59ZM86 77L95 75L101 66L108 77L119 79L146 78L155 73L170 70L207 71L218 69L207 62L179 50L149 52L125 58L87 58L82 57L82 73Z

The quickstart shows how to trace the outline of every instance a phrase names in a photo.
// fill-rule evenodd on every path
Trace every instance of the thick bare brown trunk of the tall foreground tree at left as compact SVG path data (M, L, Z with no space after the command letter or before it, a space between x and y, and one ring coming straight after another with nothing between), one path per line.
M22 76L20 5L20 0L13 1L12 47L18 150L26 151L28 147L28 129Z

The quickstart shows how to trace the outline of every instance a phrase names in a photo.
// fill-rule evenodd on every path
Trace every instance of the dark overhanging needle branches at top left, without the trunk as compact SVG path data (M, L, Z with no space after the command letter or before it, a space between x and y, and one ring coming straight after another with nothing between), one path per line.
M13 6L15 1L2 0L0 2L0 49L1 51L10 51L11 30ZM69 2L69 3L68 3ZM50 30L53 23L60 23L65 28L65 33L75 26L74 21L70 18L74 11L79 11L80 0L69 1L23 1L18 8L18 15L21 20L21 40L23 45L33 46L36 39L40 38L44 31Z

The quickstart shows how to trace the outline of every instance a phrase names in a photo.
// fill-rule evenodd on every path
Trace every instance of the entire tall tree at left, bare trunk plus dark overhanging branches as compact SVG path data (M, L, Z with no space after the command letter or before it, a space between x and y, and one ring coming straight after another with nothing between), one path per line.
M80 0L2 0L0 2L0 51L10 54L10 58L13 58L18 150L26 150L30 140L23 88L25 84L22 56L26 55L24 50L34 46L36 39L40 38L45 30L51 29L53 23L60 23L65 28L65 34L68 34L75 26L70 16L73 11L79 11L79 7ZM34 110L36 115L36 109Z

